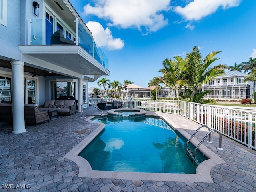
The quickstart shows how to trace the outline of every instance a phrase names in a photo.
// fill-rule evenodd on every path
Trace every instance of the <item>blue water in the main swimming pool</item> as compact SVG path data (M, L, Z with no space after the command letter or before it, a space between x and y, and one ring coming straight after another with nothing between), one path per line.
M108 117L94 122L106 127L79 154L92 170L196 173L197 166L186 155L186 141L162 119Z

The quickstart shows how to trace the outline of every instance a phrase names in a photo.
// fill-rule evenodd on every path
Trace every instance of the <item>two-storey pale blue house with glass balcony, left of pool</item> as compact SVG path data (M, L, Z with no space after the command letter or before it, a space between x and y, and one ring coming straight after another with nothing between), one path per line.
M42 105L65 88L80 112L88 82L110 72L76 10L68 0L0 2L0 100L13 105L13 133L26 131L24 104L31 96Z

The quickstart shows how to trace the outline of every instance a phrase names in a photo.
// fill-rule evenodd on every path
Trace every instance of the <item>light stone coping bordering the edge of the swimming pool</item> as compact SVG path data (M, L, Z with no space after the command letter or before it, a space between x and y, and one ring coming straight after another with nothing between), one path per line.
M107 116L106 114L103 116ZM190 138L190 134L183 128L178 128L178 125L169 118L164 118L157 114L146 114L146 116L157 116L163 118L168 124L171 124L182 136L186 139ZM78 154L104 129L105 124L100 122L93 122L91 119L94 116L90 116L86 121L90 123L99 124L98 128L84 138L79 144L77 144L72 150L70 150L64 158L72 160L78 166L78 177L90 177L90 178L102 178L102 179L127 179L127 180L154 180L154 181L170 181L170 182L206 182L213 183L211 177L211 170L214 166L222 163L226 163L217 154L208 149L204 144L198 148L203 154L207 156L207 160L203 161L196 168L195 174L177 174L177 173L144 173L144 172L113 172L113 171L98 171L92 170L89 162L78 156ZM193 138L192 144L196 146L199 141Z

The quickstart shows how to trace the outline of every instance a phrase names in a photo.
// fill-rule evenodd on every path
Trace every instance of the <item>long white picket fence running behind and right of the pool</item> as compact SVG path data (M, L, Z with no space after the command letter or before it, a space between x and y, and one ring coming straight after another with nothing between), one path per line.
M98 106L98 100L92 100ZM180 114L256 150L256 112L174 100L121 99L124 108Z

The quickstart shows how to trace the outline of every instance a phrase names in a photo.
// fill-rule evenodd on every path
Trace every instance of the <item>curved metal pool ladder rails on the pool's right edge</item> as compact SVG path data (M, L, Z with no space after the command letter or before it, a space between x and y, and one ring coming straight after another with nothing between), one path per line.
M223 150L223 148L221 147L221 142L222 142L222 135L220 133L220 131L218 131L217 129L211 129L210 127L208 127L207 125L201 125L197 128L197 130L194 132L194 134L188 139L188 141L186 142L186 150L187 152L189 151L188 149L188 143L190 142L190 140L195 136L195 134L200 130L200 128L202 127L206 127L208 128L208 132L206 134L206 136L204 136L204 138L199 142L199 144L196 146L196 148L194 149L194 160L196 160L196 150L199 148L199 146L204 142L204 140L207 138L207 136L209 136L209 140L207 141L208 143L212 143L211 141L211 132L217 132L219 134L219 147L217 147L218 150Z

